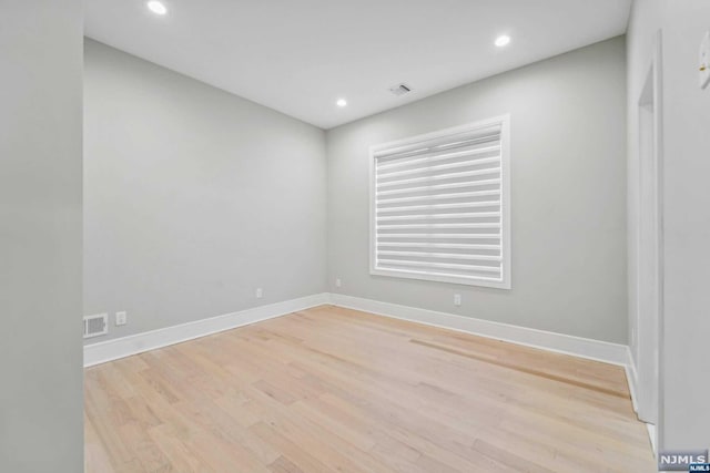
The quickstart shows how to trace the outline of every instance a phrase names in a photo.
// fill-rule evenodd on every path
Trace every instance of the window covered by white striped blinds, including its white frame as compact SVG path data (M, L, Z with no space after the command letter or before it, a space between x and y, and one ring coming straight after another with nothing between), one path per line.
M371 273L510 289L509 117L371 150Z

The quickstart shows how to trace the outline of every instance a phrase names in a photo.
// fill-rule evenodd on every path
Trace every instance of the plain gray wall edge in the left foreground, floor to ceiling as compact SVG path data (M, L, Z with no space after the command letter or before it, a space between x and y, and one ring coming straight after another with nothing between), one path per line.
M0 471L83 469L81 2L0 2Z

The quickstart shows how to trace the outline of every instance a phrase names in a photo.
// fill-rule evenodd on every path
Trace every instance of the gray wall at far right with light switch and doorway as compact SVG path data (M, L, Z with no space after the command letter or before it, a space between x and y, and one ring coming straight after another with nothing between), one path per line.
M710 445L710 89L698 86L698 49L709 18L707 0L637 0L629 23L630 167L638 162L635 97L653 34L660 29L663 35L661 449ZM637 187L631 181L629 193Z

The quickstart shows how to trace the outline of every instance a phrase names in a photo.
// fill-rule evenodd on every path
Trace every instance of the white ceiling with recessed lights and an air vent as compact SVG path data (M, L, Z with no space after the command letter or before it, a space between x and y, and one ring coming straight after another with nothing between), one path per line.
M630 2L163 0L159 17L145 0L85 0L85 32L331 128L622 34ZM393 95L399 82L413 92Z

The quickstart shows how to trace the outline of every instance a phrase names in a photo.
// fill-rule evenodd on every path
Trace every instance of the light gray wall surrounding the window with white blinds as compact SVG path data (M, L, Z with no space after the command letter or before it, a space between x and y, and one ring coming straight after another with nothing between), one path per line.
M616 38L328 131L331 291L626 343L625 68ZM368 147L508 112L513 289L371 276Z

